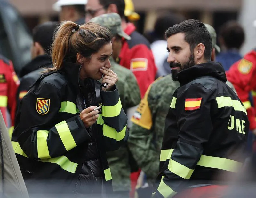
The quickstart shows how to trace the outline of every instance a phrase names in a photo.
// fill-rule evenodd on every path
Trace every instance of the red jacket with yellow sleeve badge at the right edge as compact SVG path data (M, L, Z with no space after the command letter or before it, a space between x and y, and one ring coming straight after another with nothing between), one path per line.
M256 51L249 52L243 59L235 62L226 73L228 81L234 85L238 97L247 110L250 129L256 129ZM249 101L250 92L253 96L254 108Z

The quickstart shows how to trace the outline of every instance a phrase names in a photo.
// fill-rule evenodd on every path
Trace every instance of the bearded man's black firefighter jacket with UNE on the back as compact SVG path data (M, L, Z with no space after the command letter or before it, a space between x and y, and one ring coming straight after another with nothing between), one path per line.
M202 63L177 77L180 87L166 117L154 197L223 180L220 173L236 172L243 163L249 121L242 102L225 84L222 65Z

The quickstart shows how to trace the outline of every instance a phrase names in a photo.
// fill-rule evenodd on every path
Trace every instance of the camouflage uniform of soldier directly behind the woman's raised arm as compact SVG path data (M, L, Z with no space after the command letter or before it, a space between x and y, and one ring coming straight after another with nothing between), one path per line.
M117 64L110 58L111 70L118 77L116 86L118 88L120 100L124 109L137 106L140 103L140 89L137 80L131 70ZM130 190L130 166L127 146L122 146L116 151L107 153L108 164L111 170L114 191Z

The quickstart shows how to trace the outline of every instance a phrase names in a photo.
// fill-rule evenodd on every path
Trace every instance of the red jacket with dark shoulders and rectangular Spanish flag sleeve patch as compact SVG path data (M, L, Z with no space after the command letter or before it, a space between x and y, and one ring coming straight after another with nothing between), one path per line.
M135 26L129 23L124 30L131 40L123 40L119 55L119 64L132 70L140 88L143 98L149 85L155 80L156 65L150 49L150 43L140 33L135 31Z

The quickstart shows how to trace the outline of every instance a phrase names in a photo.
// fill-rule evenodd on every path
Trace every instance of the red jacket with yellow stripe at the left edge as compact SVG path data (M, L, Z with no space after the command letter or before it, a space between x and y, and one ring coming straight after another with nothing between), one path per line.
M0 110L6 126L8 126L7 110L11 115L11 126L14 126L18 85L19 79L13 69L12 61L0 55Z

